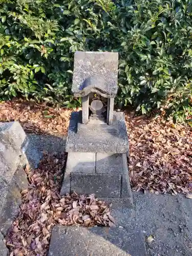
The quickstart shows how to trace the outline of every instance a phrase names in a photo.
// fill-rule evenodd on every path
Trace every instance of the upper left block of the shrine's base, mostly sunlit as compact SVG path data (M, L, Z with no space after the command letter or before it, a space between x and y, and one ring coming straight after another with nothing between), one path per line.
M69 173L95 173L95 153L69 152L65 175Z

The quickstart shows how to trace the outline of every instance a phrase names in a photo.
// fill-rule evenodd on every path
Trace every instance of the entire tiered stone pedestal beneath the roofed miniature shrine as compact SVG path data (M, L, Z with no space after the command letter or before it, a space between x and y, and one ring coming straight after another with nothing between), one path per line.
M66 144L68 152L61 195L95 194L96 197L127 199L132 204L127 168L128 138L124 114L115 112L113 124L81 124L81 113L72 114Z

